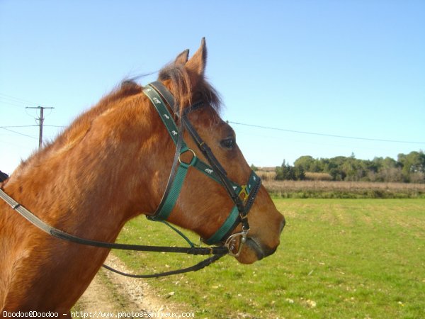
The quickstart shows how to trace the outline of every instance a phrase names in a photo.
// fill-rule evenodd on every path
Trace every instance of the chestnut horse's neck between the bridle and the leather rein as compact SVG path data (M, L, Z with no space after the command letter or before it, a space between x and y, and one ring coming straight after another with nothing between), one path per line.
M121 105L102 116L72 135L77 140L62 136L60 145L53 142L21 164L5 189L57 228L114 240L125 221L154 209L149 159L157 155L147 137L160 125L149 108Z

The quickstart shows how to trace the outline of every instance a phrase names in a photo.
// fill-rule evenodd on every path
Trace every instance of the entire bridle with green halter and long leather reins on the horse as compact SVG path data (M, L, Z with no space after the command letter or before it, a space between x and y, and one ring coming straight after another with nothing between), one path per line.
M240 252L242 251L244 242L246 242L246 235L249 232L249 223L247 215L252 204L254 203L256 194L259 191L261 179L254 173L254 171L251 171L251 175L247 184L239 186L237 183L234 183L227 177L225 169L221 166L220 162L218 162L218 160L212 154L210 147L205 144L205 142L202 140L202 138L200 138L200 136L196 132L195 128L193 128L193 125L191 125L190 121L188 121L187 114L191 111L196 111L200 107L202 107L201 103L196 103L192 106L189 106L188 108L186 108L185 111L183 111L183 115L179 116L179 107L176 106L176 104L174 103L174 97L161 82L153 82L152 84L148 84L147 87L143 90L143 93L147 95L147 97L159 113L159 116L162 119L162 122L164 123L167 131L169 132L171 139L176 145L176 152L174 155L174 160L171 167L169 180L164 191L164 195L162 196L162 200L159 203L157 210L154 212L154 214L152 214L152 216L147 216L147 218L149 220L161 221L162 223L169 225L169 223L166 223L166 219L169 218L171 211L174 208L174 204L176 203L177 198L179 198L181 187L183 186L183 182L186 178L188 169L190 167L194 167L198 169L198 171L203 172L203 174L224 186L230 198L232 198L232 201L235 204L234 208L232 208L232 211L230 211L229 216L225 220L225 223L223 223L220 228L214 233L214 235L212 235L210 238L203 239L203 242L205 242L207 245L218 246L196 247L190 240L188 240L185 235L183 235L179 230L177 230L171 225L169 225L169 227L176 231L176 233L179 233L179 235L181 235L189 243L190 247L128 245L121 243L89 240L86 238L71 235L62 230L54 228L51 225L48 225L44 221L40 220L40 218L35 216L33 213L28 211L28 209L21 206L21 204L11 198L11 196L8 196L8 194L6 194L6 192L4 192L1 188L0 198L6 201L6 203L8 203L8 205L11 206L13 210L17 211L19 214L21 214L21 216L23 216L23 218L26 218L26 220L35 225L37 228L51 235L52 237L56 237L61 240L67 240L69 242L74 242L80 245L117 250L133 250L145 252L176 252L193 255L212 255L211 257L208 257L202 262L199 262L198 264L195 264L191 267L157 274L125 274L124 272L120 272L116 269L103 265L103 267L105 267L106 269L124 276L130 276L133 278L154 278L159 276L169 276L172 274L194 272L212 264L212 262L215 262L221 257L224 257L226 254L229 254L234 257L239 256ZM168 103L174 115L179 118L179 128L177 128L177 125L174 122L174 118L173 116L171 116L171 113L169 112L162 98L166 101L166 103ZM196 152L188 148L186 142L184 142L183 140L184 128L188 130L188 133L196 142L198 149L200 150L200 152L203 153L205 158L208 159L210 165L206 164L198 157L196 157ZM181 160L181 155L183 155L183 153L185 152L192 153L193 157L190 162L183 162ZM242 201L241 196L244 196L244 201ZM239 223L242 223L242 231L240 233L234 233L230 235L234 228L239 225ZM239 247L236 248L238 238Z

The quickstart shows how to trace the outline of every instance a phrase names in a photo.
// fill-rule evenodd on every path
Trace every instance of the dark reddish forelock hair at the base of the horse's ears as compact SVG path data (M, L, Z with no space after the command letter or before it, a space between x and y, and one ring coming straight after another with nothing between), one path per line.
M159 71L158 79L171 82L171 94L179 103L179 106L190 106L195 101L203 101L210 104L212 108L220 113L221 99L217 91L205 80L204 77L198 81L195 87L191 86L191 74L184 67L171 63Z

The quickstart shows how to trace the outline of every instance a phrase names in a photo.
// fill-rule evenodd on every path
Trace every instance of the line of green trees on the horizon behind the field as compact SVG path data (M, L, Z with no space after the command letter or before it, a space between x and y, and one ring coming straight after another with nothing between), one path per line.
M276 179L328 179L331 181L392 181L425 183L425 154L423 151L372 160L337 156L315 159L302 156L293 165L283 160L276 167Z

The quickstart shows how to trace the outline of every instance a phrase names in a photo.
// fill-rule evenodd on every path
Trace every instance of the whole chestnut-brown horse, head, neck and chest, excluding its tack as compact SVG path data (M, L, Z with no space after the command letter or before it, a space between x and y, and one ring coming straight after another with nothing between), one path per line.
M218 115L220 99L204 79L206 55L203 40L190 60L186 50L164 67L159 81L180 106L203 101L206 106L188 118L229 178L242 185L251 169L234 144L234 131ZM79 116L20 164L2 187L6 194L55 228L106 242L114 242L131 218L152 214L176 147L142 89L124 82ZM184 138L196 150L188 133ZM169 221L208 238L232 206L220 184L189 169ZM237 257L246 264L276 250L285 223L263 186L248 217L249 240ZM1 315L6 310L69 313L108 252L51 237L0 201Z

